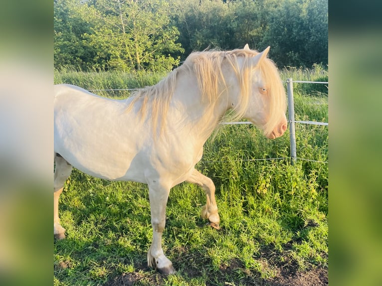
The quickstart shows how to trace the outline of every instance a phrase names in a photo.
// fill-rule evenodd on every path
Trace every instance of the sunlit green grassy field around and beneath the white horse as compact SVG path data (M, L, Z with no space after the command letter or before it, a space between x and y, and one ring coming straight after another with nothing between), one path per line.
M283 80L328 80L321 66L281 73ZM56 71L54 81L125 89L155 84L163 76L66 70ZM296 84L294 92L296 120L328 122L327 87ZM326 285L328 127L296 125L296 138L300 159L294 165L288 131L267 140L251 125L233 125L207 141L196 168L216 185L221 229L200 218L205 204L200 188L174 187L163 235L165 254L177 270L170 277L147 268L152 238L147 186L73 170L60 198L67 238L54 243L54 285Z

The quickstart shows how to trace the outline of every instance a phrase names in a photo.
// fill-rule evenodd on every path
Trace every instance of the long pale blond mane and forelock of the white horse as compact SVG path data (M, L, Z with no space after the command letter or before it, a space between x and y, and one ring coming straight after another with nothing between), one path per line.
M226 88L222 66L229 65L240 85L240 104L234 109L235 113L231 120L235 121L242 118L245 113L251 94L251 61L250 59L258 54L257 51L234 49L231 51L204 50L201 52L192 52L183 65L173 70L166 78L162 79L158 84L145 87L132 94L133 101L127 109L131 109L135 102L142 99L141 115L145 118L148 110L153 124L153 130L156 131L160 124L162 132L165 126L166 115L170 105L171 98L174 94L177 84L177 76L181 72L193 72L197 78L197 84L202 94L202 98L207 100L213 106L215 100L221 95L219 84L223 84ZM242 59L240 68L238 58ZM265 58L260 62L260 70L264 82L267 83L268 94L270 96L270 118L266 126L263 127L264 132L270 132L275 121L278 120L277 110L286 109L285 91L280 81L279 73L276 65L272 60ZM161 133L160 132L160 133Z

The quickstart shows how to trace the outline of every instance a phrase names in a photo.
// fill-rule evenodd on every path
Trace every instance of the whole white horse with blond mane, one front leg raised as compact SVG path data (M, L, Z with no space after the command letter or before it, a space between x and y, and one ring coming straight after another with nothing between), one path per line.
M285 90L274 63L244 49L194 52L157 85L126 100L96 96L82 88L54 86L54 235L65 237L58 200L72 166L107 180L149 186L153 241L148 266L174 274L162 250L170 189L188 181L206 194L201 217L219 227L212 180L194 165L203 145L228 110L277 138L287 129Z

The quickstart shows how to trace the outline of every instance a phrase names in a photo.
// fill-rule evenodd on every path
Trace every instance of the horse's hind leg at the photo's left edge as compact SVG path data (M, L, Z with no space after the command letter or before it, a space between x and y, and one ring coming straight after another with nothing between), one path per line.
M69 164L59 154L54 155L56 168L54 170L54 237L56 239L65 238L65 229L60 225L58 217L58 199L64 188L65 181L70 176L72 165Z

